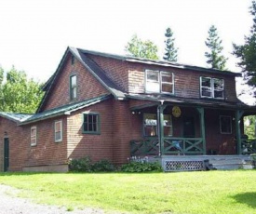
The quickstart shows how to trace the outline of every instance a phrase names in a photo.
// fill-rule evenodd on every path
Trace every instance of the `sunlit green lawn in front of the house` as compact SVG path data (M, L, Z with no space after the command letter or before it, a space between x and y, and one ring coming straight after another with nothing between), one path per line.
M256 170L179 173L0 173L38 203L130 213L256 213ZM111 212L111 211L110 211Z

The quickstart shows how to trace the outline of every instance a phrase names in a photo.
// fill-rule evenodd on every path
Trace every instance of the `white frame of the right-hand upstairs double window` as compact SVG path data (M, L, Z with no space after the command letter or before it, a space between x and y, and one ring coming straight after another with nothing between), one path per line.
M203 78L209 79L209 81L210 81L210 86L209 87L202 86ZM222 88L215 88L214 87L214 81L215 80L222 80ZM209 92L210 92L210 96L203 95L203 89L202 88L208 88ZM216 98L215 97L215 91L222 92L222 97L221 98ZM212 77L208 77L208 76L200 76L200 97L201 98L211 98L211 99L224 100L224 80L222 78L212 78Z

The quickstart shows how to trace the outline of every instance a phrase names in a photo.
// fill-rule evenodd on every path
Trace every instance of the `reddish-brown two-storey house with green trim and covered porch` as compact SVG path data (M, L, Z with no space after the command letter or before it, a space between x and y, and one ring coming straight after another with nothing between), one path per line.
M0 113L1 171L67 171L86 155L250 154L240 74L68 47L36 114Z

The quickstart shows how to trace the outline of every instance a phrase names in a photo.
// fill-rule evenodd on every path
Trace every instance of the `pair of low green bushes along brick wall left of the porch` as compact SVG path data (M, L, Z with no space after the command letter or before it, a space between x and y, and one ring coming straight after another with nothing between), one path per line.
M93 164L88 156L71 160L69 168L70 171L75 172L108 172L115 170L114 165L109 160L102 159Z

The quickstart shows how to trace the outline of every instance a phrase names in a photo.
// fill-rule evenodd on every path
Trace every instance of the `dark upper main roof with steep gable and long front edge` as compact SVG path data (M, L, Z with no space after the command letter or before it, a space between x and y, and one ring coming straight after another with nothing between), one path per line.
M208 69L208 68L203 68L203 67L193 66L193 65L185 65L177 62L170 62L165 60L147 60L147 59L135 58L130 56L121 56L121 55L102 53L102 52L97 52L92 50L81 49L81 48L68 47L61 59L61 62L56 72L48 79L47 83L43 87L46 93L44 98L41 100L41 103L36 113L40 113L41 110L43 109L43 106L46 103L47 97L50 94L51 88L54 85L54 82L56 81L58 74L60 74L61 67L69 53L72 53L76 58L76 60L79 60L85 66L85 68L89 71L89 73L92 74L101 83L101 85L105 87L110 92L110 94L112 94L117 100L127 99L128 94L124 90L122 90L121 87L118 87L115 84L115 82L110 77L107 76L103 68L101 68L97 63L95 63L94 60L90 59L89 55L96 55L96 56L101 56L101 57L115 59L115 60L123 60L131 63L132 62L142 63L142 64L158 65L162 67L176 68L176 69L182 69L182 70L199 71L199 72L204 72L206 74L241 76L241 74L239 73L233 73L229 71L220 71L217 69Z

